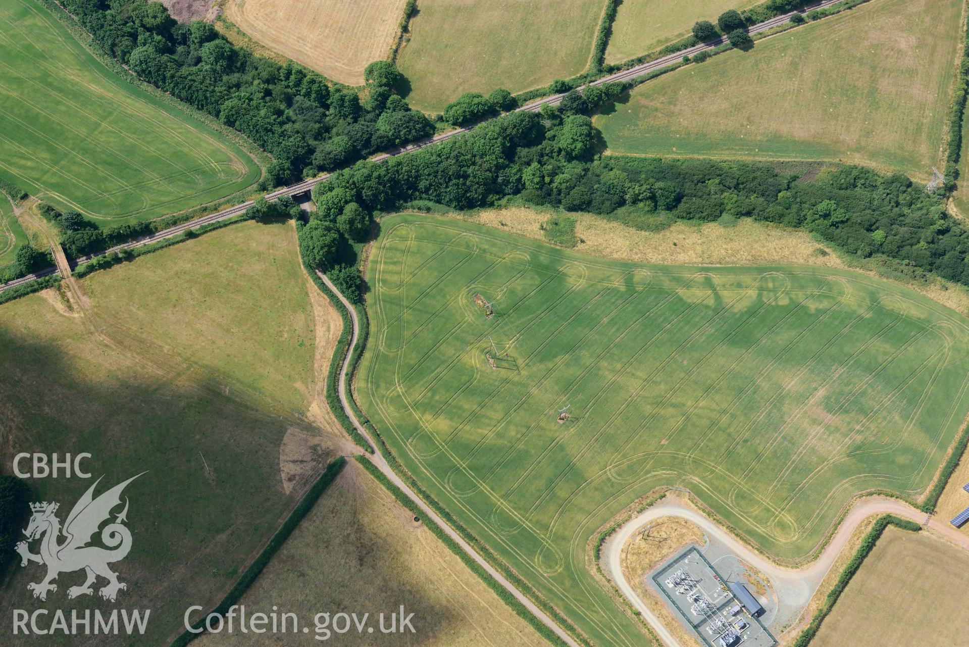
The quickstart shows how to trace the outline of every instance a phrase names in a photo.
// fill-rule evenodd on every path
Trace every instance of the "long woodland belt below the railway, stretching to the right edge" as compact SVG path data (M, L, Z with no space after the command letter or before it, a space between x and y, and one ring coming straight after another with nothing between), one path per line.
M414 200L468 209L512 197L603 216L633 205L623 221L634 227L750 217L812 231L862 258L883 255L900 271L921 268L969 285L969 231L940 195L901 173L844 166L784 174L758 162L600 157L598 139L582 114L516 112L383 164L338 171L314 197L366 212ZM331 218L317 217L314 227L339 233ZM314 258L326 268L327 254Z

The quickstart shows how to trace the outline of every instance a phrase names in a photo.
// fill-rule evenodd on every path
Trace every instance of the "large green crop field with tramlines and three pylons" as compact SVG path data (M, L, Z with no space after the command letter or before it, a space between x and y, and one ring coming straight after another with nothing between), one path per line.
M855 494L919 496L969 411L969 320L850 271L610 262L407 215L382 224L368 281L364 410L600 645L644 638L587 540L651 488L689 487L796 559Z

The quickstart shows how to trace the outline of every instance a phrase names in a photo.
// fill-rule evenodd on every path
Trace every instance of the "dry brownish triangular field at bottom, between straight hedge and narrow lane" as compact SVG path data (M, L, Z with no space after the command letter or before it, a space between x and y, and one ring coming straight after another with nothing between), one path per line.
M326 610L358 617L369 613L377 625L380 613L387 617L401 604L414 613L413 634L352 631L330 638L340 645L548 645L355 461L349 461L239 603L253 610L278 605L304 621ZM310 635L315 635L313 628ZM205 635L197 644L297 642L292 635L221 633Z

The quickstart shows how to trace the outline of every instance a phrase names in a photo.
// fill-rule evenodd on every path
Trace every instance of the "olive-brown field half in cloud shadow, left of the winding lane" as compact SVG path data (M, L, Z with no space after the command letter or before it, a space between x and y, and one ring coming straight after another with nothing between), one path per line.
M151 609L140 644L168 644L189 605L221 600L328 455L301 414L317 323L294 238L292 223L246 223L92 274L79 281L83 316L54 291L0 306L4 463L20 451L89 452L99 492L147 471L125 492L135 540L115 565L128 584L117 605ZM62 522L92 482L30 480L36 500L60 503ZM4 607L104 608L67 601L82 573L63 573L36 601L26 585L40 576L16 566Z

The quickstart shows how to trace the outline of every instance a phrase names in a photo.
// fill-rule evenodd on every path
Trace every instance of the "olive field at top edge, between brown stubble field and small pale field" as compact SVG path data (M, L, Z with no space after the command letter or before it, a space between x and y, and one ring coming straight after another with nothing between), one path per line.
M513 93L574 77L589 64L605 0L424 0L398 65L414 108L441 111L462 93Z

